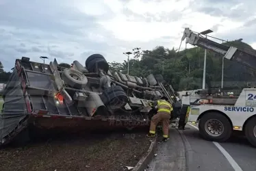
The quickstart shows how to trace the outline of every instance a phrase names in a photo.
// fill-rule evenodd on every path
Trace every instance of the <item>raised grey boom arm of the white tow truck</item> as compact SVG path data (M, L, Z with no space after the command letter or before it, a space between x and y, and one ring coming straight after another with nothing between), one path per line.
M241 50L236 47L229 47L224 44L219 44L217 42L204 38L203 36L201 36L201 34L197 34L189 28L185 28L181 40L183 41L185 40L185 38L186 43L222 54L228 60L239 62L240 64L256 70L256 51L254 49Z

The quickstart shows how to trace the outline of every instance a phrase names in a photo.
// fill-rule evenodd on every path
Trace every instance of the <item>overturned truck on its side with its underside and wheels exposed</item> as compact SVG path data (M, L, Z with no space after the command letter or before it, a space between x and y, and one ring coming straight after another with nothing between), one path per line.
M180 109L162 75L142 78L112 72L100 54L90 55L86 66L74 61L71 68L58 66L56 60L41 64L22 57L3 92L0 145L18 136L21 140L37 128L147 127L154 112L148 103L160 96Z

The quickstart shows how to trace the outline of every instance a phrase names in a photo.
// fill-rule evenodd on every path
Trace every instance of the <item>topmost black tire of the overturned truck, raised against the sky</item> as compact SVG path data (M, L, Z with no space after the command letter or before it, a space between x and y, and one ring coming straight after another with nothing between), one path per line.
M88 57L88 60L86 60L86 68L89 71L89 73L97 73L98 68L101 68L102 70L107 73L109 70L109 65L107 64L107 61L102 55L94 54L95 56ZM92 59L92 57L94 57Z

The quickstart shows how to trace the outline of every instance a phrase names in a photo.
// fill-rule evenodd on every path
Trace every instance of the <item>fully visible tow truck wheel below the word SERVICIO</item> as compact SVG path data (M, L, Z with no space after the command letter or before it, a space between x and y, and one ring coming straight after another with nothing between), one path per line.
M199 132L205 140L225 142L231 136L232 125L226 116L210 112L199 120Z

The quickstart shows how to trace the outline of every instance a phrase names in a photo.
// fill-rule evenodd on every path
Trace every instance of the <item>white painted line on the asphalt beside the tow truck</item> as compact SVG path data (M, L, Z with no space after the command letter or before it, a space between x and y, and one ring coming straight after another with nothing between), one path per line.
M194 126L193 124L190 124L190 123L188 123L188 124L191 127L194 127L195 129L199 130L199 128ZM212 142L212 143L214 143L214 145L218 148L218 150L220 150L222 155L224 155L226 157L227 161L229 161L230 165L232 166L232 168L235 171L243 171L242 168L240 168L240 166L238 165L238 163L235 162L233 157L231 157L231 155L229 155L229 153L227 153L227 150L225 150L220 144L218 144L218 142Z

